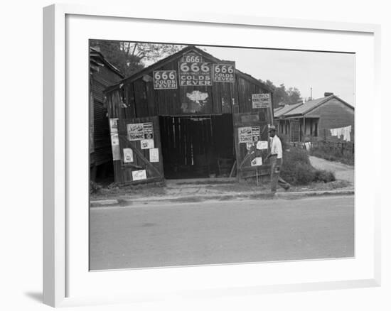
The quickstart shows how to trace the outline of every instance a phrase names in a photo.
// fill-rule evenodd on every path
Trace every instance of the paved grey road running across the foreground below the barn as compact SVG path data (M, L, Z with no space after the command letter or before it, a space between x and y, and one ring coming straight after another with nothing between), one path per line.
M354 256L353 196L95 207L90 268Z

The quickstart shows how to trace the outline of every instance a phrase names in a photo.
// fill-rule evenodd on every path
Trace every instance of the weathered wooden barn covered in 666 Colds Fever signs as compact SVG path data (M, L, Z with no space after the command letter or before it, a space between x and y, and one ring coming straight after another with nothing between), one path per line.
M272 92L195 46L108 87L115 182L269 173Z

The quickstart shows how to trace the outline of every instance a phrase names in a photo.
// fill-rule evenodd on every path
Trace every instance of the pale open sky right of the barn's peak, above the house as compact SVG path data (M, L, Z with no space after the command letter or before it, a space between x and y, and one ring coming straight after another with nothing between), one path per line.
M355 55L298 50L199 47L222 60L235 60L236 68L274 85L297 87L301 97L314 99L325 92L355 106Z

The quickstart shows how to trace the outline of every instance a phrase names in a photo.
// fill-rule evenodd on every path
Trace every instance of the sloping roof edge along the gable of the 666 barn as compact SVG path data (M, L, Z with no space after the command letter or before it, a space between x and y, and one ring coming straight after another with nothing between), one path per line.
M186 46L186 48L179 50L178 52L174 53L173 55L170 55L166 58L163 58L162 60L159 60L158 62L155 62L154 64L149 65L148 67L145 67L143 70L140 70L139 72L134 73L134 75L126 77L123 80L117 82L116 84L113 84L111 87L107 87L107 89L105 89L105 91L109 92L112 89L117 89L117 87L120 84L123 84L125 82L133 82L134 80L137 80L140 77L143 77L148 72L151 72L152 70L155 70L156 68L164 66L168 62L172 62L173 60L176 60L177 58L181 58L184 53L188 53L191 51L195 51L196 53L203 55L205 58L208 58L209 60L212 60L213 62L223 62L223 60L215 58L213 55L206 53L204 50L197 48L195 45L188 45L188 46ZM242 77L245 80L252 82L253 84L257 84L260 87L267 89L267 91L269 91L269 92L274 92L274 89L272 87L269 87L267 84L260 82L255 77L252 77L251 75L248 75L245 72L241 72L240 70L235 69L235 74L239 75L240 77Z

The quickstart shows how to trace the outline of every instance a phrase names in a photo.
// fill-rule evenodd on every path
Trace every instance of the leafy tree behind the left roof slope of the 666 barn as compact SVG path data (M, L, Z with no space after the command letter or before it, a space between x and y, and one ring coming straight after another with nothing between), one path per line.
M183 48L183 45L110 40L92 40L90 45L98 48L125 77Z

